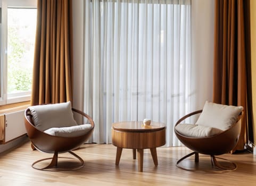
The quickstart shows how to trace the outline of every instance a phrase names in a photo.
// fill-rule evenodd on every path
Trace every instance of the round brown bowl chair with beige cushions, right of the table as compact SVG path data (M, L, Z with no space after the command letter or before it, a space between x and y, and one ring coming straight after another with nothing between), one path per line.
M205 102L203 110L189 113L178 120L174 129L175 134L193 152L179 159L176 165L183 168L179 163L192 155L195 155L197 163L200 153L211 156L213 167L220 170L236 170L235 163L230 162L229 166L222 166L216 156L229 153L236 146L241 132L242 113L242 106ZM195 114L200 114L195 124L181 123Z

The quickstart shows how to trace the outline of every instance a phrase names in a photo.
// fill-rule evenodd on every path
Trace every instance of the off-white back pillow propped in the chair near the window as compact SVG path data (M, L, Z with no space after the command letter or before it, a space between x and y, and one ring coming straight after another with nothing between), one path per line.
M30 106L29 109L36 128L41 131L77 125L70 102Z

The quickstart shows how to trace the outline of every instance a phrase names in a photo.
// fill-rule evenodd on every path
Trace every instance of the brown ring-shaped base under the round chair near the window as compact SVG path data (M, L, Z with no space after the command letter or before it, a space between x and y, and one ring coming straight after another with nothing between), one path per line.
M83 167L85 165L84 160L82 160L82 158L79 157L77 154L73 153L72 151L68 151L68 153L70 153L71 155L75 156L79 160L80 165L78 167L75 167L75 168L64 168L64 167L58 166L58 164L57 164L58 153L54 153L52 158L39 159L36 162L34 162L31 166L33 168L35 168L36 170L40 170L40 171L72 171L72 170L78 170L79 168L81 168L81 167ZM72 159L72 158L68 158L68 157L59 157L59 158ZM52 161L46 167L38 168L38 167L35 166L37 163L43 162L44 160L47 160L47 159L52 159Z

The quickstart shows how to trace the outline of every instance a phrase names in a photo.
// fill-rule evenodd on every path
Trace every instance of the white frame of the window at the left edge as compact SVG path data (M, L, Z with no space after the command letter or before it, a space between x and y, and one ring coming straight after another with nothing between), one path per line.
M8 8L37 9L36 0L0 0L0 105L26 102L31 91L7 94L7 10Z

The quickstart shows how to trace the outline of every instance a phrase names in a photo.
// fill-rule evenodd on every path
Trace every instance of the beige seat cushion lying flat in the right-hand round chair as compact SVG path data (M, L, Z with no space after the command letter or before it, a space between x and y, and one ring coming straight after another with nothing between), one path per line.
M220 129L209 126L182 123L175 126L175 129L183 136L192 138L210 137L222 132Z

